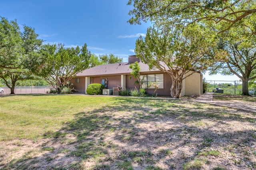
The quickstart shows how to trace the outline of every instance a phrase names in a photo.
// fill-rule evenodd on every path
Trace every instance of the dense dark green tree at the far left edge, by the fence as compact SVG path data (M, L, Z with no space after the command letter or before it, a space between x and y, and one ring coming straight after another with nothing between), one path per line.
M43 40L38 39L34 28L23 26L24 31L16 21L8 21L1 18L0 23L0 78L14 94L14 88L18 80L33 79L34 76L26 68L26 60L32 54L37 53ZM10 80L10 83L9 81Z

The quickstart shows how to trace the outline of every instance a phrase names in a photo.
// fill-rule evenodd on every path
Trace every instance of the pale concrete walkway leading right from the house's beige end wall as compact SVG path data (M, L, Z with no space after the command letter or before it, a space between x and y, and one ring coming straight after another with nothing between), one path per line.
M193 99L193 101L196 102L201 102L201 103L207 103L207 104L213 104L213 105L218 105L218 106L225 106L225 107L230 107L242 111L248 111L248 112L253 112L256 113L256 105L246 105L245 103L242 102L230 102L230 101L216 101L212 100L213 98L213 92L206 92L205 94L202 94L201 96L197 97L196 99Z

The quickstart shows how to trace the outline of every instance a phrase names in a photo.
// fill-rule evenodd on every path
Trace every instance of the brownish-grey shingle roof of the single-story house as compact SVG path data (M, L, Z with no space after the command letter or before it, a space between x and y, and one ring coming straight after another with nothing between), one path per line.
M158 69L149 70L148 65L142 62L139 62L141 73L147 73L152 71L160 71ZM88 68L78 74L76 76L104 76L104 75L120 75L120 74L130 74L132 71L129 68L129 63L114 63L114 64L103 64L94 66L92 68Z

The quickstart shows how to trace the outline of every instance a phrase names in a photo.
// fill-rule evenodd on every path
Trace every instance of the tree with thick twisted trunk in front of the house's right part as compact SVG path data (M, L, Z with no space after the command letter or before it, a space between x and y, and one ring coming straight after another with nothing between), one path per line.
M179 98L182 80L213 63L213 48L205 34L206 30L198 25L165 34L150 27L145 39L137 39L135 53L150 69L156 67L170 75L170 95Z

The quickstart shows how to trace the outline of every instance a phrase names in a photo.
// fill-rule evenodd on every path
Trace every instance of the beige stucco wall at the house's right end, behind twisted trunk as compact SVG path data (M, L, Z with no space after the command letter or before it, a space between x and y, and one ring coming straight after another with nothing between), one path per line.
M191 72L188 72L186 75L190 74ZM202 88L202 74L196 72L187 78L185 78L182 82L182 90L181 90L180 96L200 96L203 92Z

